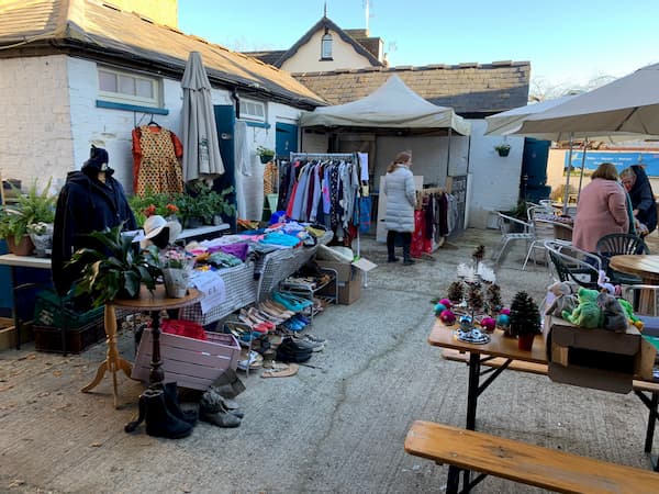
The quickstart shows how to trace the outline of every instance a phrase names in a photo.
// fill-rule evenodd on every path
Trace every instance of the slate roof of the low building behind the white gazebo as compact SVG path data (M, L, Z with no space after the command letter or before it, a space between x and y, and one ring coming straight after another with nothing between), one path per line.
M431 103L450 106L461 116L484 116L527 103L530 63L429 65L422 67L372 67L353 70L293 74L325 99L343 104L373 92L392 75Z

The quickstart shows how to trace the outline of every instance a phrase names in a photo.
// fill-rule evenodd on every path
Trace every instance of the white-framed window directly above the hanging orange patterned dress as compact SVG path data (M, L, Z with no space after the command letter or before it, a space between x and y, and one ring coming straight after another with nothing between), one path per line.
M160 79L99 67L99 99L118 103L160 106Z

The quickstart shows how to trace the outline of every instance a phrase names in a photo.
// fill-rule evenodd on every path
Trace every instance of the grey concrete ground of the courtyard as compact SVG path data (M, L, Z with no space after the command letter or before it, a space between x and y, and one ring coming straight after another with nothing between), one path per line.
M123 426L136 412L138 382L120 377L79 390L104 357L104 344L80 356L0 353L0 492L9 493L311 493L442 492L445 467L409 456L415 419L463 426L467 367L447 362L426 343L435 322L429 300L446 294L456 266L498 232L468 231L413 267L386 262L386 248L362 239L379 263L353 305L328 307L313 334L327 338L316 369L261 379L242 374L239 428L200 423L186 439L147 436ZM654 249L657 251L657 249ZM524 248L496 270L503 299L518 290L537 302L550 282L545 266L522 271ZM132 335L121 335L131 358ZM616 463L649 468L643 452L647 411L634 395L552 383L504 372L481 396L478 429ZM657 447L655 447L657 452ZM541 492L485 479L477 492Z

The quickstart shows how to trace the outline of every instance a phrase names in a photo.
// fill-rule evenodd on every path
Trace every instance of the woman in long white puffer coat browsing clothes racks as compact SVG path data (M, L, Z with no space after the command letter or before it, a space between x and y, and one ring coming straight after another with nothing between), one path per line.
M410 257L412 233L414 232L414 205L416 193L414 191L414 179L410 166L412 165L412 151L401 151L395 155L394 160L387 168L384 177L384 193L387 194L387 254L388 261L395 262L394 255L395 237L403 238L403 265L413 265Z

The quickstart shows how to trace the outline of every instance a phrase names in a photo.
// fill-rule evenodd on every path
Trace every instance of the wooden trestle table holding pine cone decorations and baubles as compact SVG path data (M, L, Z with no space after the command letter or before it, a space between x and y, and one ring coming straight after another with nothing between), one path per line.
M478 408L478 398L488 386L513 362L530 362L534 364L548 364L545 336L537 335L530 351L520 350L517 340L503 336L503 332L496 329L490 334L490 343L484 345L469 344L460 341L454 337L456 326L446 326L442 322L435 322L433 329L428 336L428 343L434 347L448 348L458 351L467 352L469 356L469 379L467 392L467 425L466 428L476 430L476 414ZM481 364L485 364L494 359L503 359L500 366L492 367L481 371ZM487 379L481 383L481 377L487 375ZM637 382L637 381L635 381ZM645 381L640 381L645 382ZM654 382L649 382L655 384ZM650 386L648 386L650 388ZM640 398L644 405L649 409L648 425L646 429L645 451L651 452L652 438L655 435L655 424L659 422L659 391L651 386L648 397L644 390L634 390L635 394ZM657 470L657 468L656 468Z

